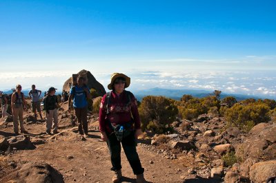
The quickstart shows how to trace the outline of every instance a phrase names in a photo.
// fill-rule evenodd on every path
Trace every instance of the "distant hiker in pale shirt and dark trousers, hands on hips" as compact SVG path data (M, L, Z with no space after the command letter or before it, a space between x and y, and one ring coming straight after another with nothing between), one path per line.
M32 89L29 92L29 96L32 99L32 112L34 113L34 118L37 120L37 112L39 113L40 119L42 120L41 108L39 97L41 95L41 90L35 89L35 85L32 85Z

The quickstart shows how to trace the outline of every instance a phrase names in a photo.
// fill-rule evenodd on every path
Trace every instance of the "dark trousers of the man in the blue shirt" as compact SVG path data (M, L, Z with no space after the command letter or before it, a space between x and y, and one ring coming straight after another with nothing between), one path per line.
M75 114L79 122L79 133L88 133L88 124L87 124L87 107L77 108L75 107Z

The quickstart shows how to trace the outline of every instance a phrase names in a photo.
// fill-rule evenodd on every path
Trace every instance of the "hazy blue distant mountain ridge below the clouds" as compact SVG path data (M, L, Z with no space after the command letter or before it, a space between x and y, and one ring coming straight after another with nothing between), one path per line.
M196 90L196 89L164 89L164 88L151 88L151 89L145 89L145 90L137 90L134 91L133 94L135 94L135 97L137 100L141 101L144 96L166 96L168 98L172 98L175 100L180 100L180 98L184 95L191 95L197 98L204 98L206 96L210 96L213 94L211 91L207 90ZM259 96L248 96L243 94L224 94L223 91L221 93L221 98L225 98L226 96L233 96L237 100L245 100L246 98L264 98Z

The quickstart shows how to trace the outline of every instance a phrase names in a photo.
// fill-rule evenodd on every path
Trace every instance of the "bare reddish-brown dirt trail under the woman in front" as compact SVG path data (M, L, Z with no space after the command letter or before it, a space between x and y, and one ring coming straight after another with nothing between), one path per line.
M6 155L6 158L10 162L17 162L19 166L27 162L46 162L63 175L64 182L111 182L113 172L110 171L110 155L106 142L100 139L99 131L90 128L88 138L83 141L77 134L76 128L62 128L59 129L61 133L49 136L43 133L45 131L43 123L26 125L31 138L40 136L47 139L47 142L36 145L37 148L34 150L14 151ZM12 127L1 127L0 135L10 134ZM148 151L143 144L138 144L137 151L148 182L183 182L183 176L188 170L183 160L161 158L157 153ZM135 175L130 169L123 149L121 157L124 175L122 182L135 182ZM10 179L12 177L9 175L2 175L0 182Z

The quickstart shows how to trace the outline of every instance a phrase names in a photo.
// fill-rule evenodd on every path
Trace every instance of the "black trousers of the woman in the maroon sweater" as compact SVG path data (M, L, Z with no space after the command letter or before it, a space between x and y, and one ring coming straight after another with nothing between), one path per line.
M130 163L132 171L135 175L144 173L141 166L138 153L136 151L135 132L132 131L129 136L123 138L121 143L117 140L115 133L108 135L108 149L110 151L112 171L119 171L121 169L121 144L123 146L126 158Z

